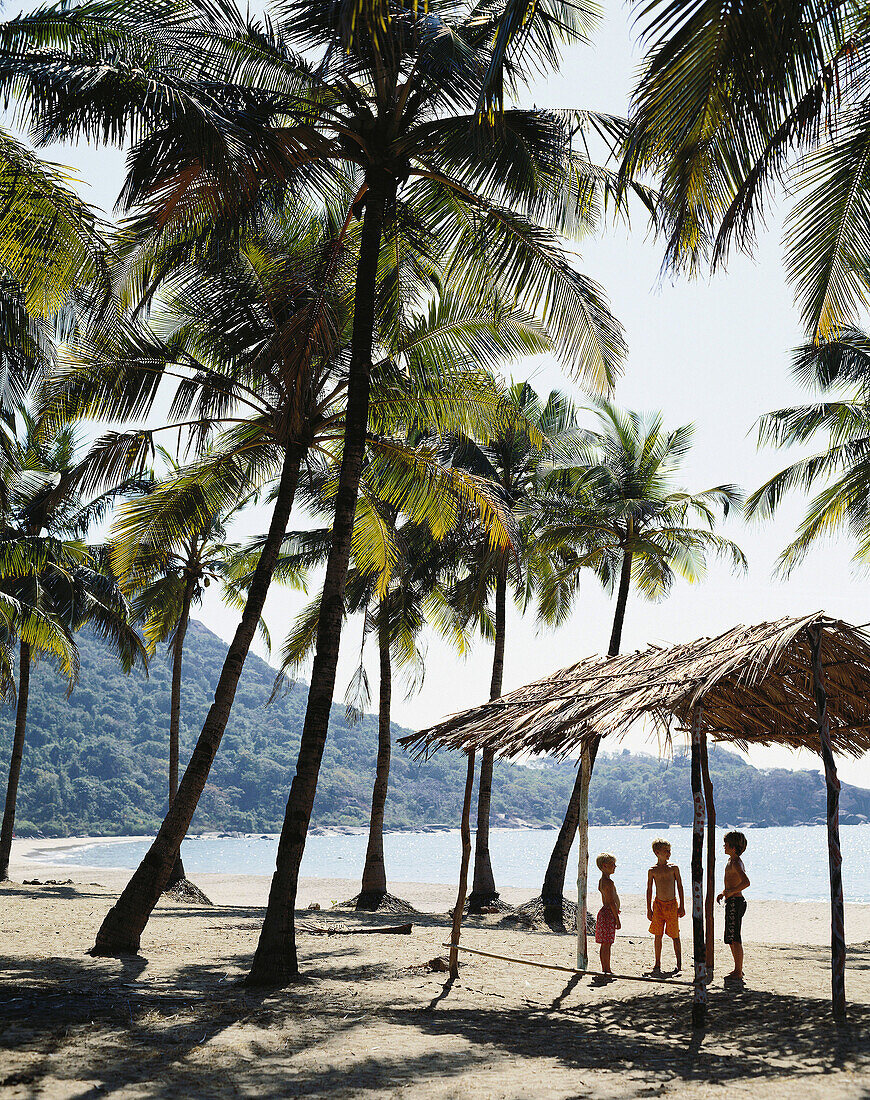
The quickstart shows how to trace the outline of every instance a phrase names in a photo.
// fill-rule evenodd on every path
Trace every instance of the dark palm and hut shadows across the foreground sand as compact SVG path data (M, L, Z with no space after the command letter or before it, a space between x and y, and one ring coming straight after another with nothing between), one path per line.
M718 1085L727 1096L730 1082L788 1077L796 1090L807 1079L870 1068L870 1005L852 1005L848 1024L836 1028L824 998L713 989L708 1026L693 1033L686 996L664 1000L645 990L590 1003L582 999L588 979L576 976L540 1003L478 1003L467 985L448 979L434 998L415 1004L407 987L399 994L390 986L397 966L363 960L350 937L308 947L306 978L264 993L235 980L246 954L150 981L141 980L141 956L0 958L0 1054L10 1066L0 1087L16 1089L12 1096L49 1094L44 1082L63 1077L85 1087L76 1091L82 1100L125 1086L154 1100L390 1094L414 1082L450 1082L507 1055L540 1059L542 1074L555 1059L572 1072L598 1069L627 1080L647 1074L669 1089ZM870 949L850 949L849 964L870 965ZM377 999L354 1005L354 990L370 982ZM373 1025L393 1036L379 1049L366 1046ZM221 1036L229 1028L241 1040L225 1055L232 1069L223 1081ZM352 1067L326 1046L313 1057L319 1044L354 1031ZM405 1048L403 1034L415 1043ZM11 1057L22 1052L26 1064ZM860 1079L850 1086L850 1094L870 1098Z

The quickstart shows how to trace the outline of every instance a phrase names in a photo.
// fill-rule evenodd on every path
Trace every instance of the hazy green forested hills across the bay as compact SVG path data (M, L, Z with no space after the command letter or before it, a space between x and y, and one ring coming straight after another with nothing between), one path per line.
M37 667L18 805L21 835L122 835L153 832L163 816L167 782L169 669L163 656L146 679L125 676L103 645L80 637L81 674L67 698L65 684L47 666ZM184 668L183 762L211 702L225 646L198 623L190 626ZM273 670L250 657L232 717L212 768L192 832L277 832L294 774L306 685L297 684L266 705ZM396 727L396 736L406 730ZM0 711L1 763L12 739L12 712ZM333 708L313 825L367 822L377 724L366 716L349 726ZM438 752L425 762L400 749L393 758L387 826L411 827L459 820L464 762ZM759 771L741 758L714 750L711 770L720 822L790 825L823 820L825 795L818 772ZM497 763L495 823L552 826L561 821L574 779L573 765L532 767ZM603 754L592 784L591 816L599 824L643 821L687 823L689 761ZM847 815L870 817L870 792L844 787Z

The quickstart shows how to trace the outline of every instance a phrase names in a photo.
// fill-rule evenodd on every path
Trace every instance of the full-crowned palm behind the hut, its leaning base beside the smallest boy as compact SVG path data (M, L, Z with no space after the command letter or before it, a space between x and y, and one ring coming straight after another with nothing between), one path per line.
M746 566L740 549L713 530L716 509L727 516L741 497L734 485L695 494L674 487L692 446L692 425L667 431L660 414L645 418L608 402L599 402L596 414L601 427L586 433L584 463L566 483L561 479L543 505L547 529L537 547L550 561L544 606L564 608L590 569L616 593L607 647L607 656L615 657L632 582L647 598L661 600L676 575L700 581L711 553L730 560L734 568ZM692 518L704 526L690 526ZM543 879L540 904L546 922L554 927L565 923L568 857L577 825L587 828L585 796L596 752L597 743L577 769Z

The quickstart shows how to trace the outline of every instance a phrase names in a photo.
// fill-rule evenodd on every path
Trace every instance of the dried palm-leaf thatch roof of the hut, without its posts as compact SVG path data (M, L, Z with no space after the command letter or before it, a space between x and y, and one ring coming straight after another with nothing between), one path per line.
M870 748L870 636L822 612L670 649L590 657L401 745L415 756L443 746L566 757L596 737L621 736L643 716L670 737L674 724L687 728L703 701L702 725L714 740L818 751L811 628L821 632L833 748L860 756Z

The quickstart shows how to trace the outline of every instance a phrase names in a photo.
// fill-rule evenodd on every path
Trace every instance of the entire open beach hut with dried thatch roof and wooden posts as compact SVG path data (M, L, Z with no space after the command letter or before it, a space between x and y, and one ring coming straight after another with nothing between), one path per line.
M400 744L416 756L439 747L469 751L463 828L467 831L474 750L511 758L549 752L582 756L577 967L586 968L586 824L592 760L602 738L621 737L641 718L660 734L691 732L694 837L692 847L695 980L693 1023L706 1012L712 977L715 892L715 805L707 738L747 748L784 745L822 756L827 785L832 894L832 1004L846 1014L846 939L838 826L839 780L834 751L860 756L870 748L870 635L819 612L758 626L738 626L717 638L664 649L651 646L620 657L591 657L491 703L455 714ZM702 908L702 846L707 833L706 903ZM463 868L466 856L463 856ZM461 872L461 912L464 879ZM704 915L706 910L706 916ZM582 917L582 919L581 919ZM582 925L582 927L581 927ZM705 931L706 925L706 931ZM459 922L451 938L451 967ZM582 960L582 961L581 961ZM736 957L735 957L736 961ZM453 970L451 972L454 972Z

